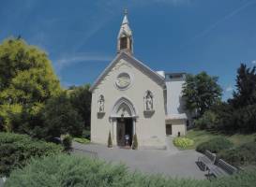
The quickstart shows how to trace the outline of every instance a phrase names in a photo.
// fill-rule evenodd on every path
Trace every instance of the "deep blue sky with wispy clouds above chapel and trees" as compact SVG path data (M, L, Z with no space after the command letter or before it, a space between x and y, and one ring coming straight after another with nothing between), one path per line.
M153 70L218 76L223 99L256 65L256 0L0 0L0 42L45 50L65 87L92 84L116 55L128 8L134 56Z

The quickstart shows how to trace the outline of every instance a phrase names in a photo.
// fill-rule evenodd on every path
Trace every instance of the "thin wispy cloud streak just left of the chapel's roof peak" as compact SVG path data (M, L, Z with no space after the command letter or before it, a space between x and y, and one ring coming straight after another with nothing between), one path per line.
M68 56L64 56L59 59L56 59L53 61L53 64L56 68L56 71L60 73L61 70L68 65L74 65L77 63L108 62L108 61L111 61L112 59L113 57L108 55L76 53L73 55L68 55Z

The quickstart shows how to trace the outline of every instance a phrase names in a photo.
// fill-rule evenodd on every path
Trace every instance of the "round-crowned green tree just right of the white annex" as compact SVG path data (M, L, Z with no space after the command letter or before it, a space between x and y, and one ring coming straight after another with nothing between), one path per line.
M207 109L220 102L221 92L218 77L210 77L201 72L195 76L187 76L182 96L186 100L186 108L199 118Z

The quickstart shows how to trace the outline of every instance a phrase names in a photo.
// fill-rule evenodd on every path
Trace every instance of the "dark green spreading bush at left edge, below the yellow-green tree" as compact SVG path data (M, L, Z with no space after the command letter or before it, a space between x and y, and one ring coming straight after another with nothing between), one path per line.
M47 156L62 151L62 147L26 135L0 133L0 175L8 176L15 168L34 156Z

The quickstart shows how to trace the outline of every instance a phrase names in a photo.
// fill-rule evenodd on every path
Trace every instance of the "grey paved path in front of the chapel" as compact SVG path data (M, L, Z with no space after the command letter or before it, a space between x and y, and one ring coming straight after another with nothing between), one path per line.
M98 144L79 144L73 142L73 148L83 154L97 152L98 158L113 163L123 163L131 170L141 170L144 173L159 173L177 178L205 179L205 172L196 165L201 153L193 150L125 150L114 147L109 149Z

